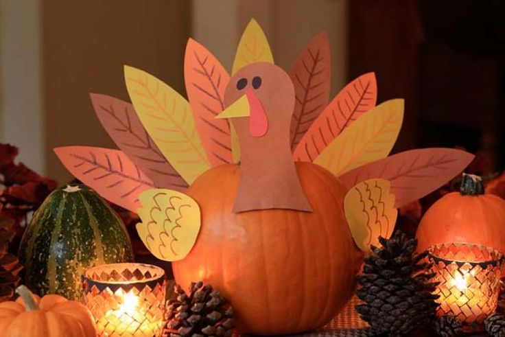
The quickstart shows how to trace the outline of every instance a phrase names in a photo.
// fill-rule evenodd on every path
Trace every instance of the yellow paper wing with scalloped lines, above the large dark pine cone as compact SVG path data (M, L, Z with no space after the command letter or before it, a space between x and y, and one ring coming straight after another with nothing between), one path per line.
M386 179L368 179L347 192L344 210L353 239L362 251L380 246L379 236L389 238L395 229L395 195Z

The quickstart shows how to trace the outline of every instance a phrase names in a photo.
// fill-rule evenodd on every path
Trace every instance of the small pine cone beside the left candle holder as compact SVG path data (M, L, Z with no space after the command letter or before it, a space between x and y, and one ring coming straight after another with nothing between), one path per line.
M174 286L177 299L167 307L170 337L231 336L235 321L233 308L217 290L202 281L191 283L189 294Z

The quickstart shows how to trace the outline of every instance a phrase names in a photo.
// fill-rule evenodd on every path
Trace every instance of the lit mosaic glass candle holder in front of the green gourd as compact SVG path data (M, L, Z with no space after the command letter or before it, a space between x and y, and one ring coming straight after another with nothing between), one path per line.
M98 336L161 336L167 288L162 268L105 264L86 270L82 285Z

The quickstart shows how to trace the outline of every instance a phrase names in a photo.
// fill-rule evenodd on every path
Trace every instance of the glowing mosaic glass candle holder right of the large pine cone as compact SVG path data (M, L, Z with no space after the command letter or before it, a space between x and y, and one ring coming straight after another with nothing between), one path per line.
M464 332L484 329L500 293L502 253L475 244L437 244L428 248L434 281L440 284L438 316L456 316Z

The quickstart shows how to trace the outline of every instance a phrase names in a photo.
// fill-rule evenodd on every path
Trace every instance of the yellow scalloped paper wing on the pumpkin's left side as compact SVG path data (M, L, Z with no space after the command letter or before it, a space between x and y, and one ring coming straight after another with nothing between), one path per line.
M200 231L200 207L191 197L171 189L148 189L139 195L142 222L137 232L158 259L184 259Z

